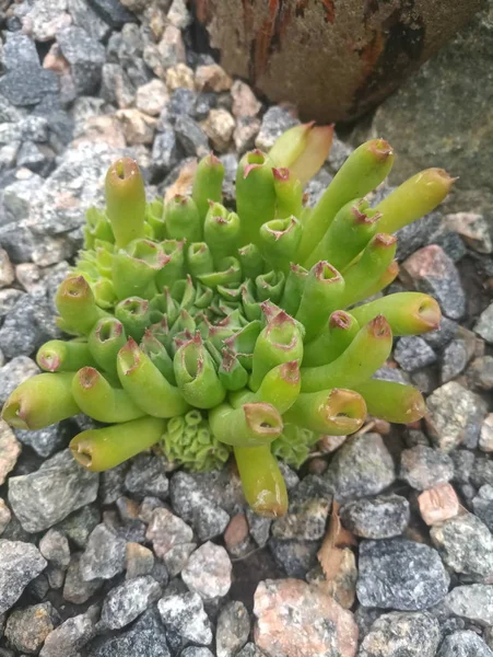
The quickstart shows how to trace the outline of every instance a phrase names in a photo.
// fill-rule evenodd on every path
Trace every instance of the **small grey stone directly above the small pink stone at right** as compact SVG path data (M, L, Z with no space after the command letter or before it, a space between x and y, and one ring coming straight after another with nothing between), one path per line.
M416 491L425 491L448 483L454 476L454 462L448 454L419 445L402 452L399 476Z

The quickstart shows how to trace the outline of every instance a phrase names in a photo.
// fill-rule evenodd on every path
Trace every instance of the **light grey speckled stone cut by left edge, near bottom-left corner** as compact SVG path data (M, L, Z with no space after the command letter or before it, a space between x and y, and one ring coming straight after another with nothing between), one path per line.
M16 602L27 584L46 565L46 560L35 545L0 540L0 613Z

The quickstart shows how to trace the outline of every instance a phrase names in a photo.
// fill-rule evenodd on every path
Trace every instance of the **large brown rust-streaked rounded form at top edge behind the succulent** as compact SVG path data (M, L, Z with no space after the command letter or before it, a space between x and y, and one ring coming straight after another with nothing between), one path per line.
M319 122L364 114L436 53L481 0L192 0L231 74Z

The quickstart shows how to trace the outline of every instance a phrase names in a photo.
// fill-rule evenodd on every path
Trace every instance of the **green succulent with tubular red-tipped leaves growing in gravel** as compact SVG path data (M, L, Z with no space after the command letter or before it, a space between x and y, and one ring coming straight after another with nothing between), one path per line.
M423 293L379 292L399 270L392 233L453 181L423 171L372 208L364 197L394 160L374 139L304 207L331 139L331 127L306 124L268 154L246 153L235 211L222 205L213 154L198 163L191 195L166 203L146 203L133 160L115 162L106 209L87 211L84 250L56 296L73 337L39 349L45 373L10 395L3 418L23 429L80 412L104 423L71 442L94 471L156 443L191 470L233 452L248 503L268 516L287 506L277 457L297 466L320 436L352 434L367 413L419 419L416 390L372 377L392 336L437 328L439 308Z

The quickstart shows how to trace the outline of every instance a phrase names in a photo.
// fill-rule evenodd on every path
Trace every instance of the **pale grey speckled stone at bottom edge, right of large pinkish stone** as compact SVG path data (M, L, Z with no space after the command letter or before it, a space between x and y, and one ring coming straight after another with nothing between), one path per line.
M359 657L435 657L438 621L427 612L386 613L363 638Z

